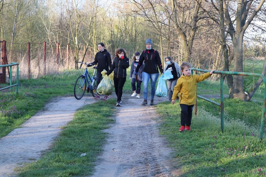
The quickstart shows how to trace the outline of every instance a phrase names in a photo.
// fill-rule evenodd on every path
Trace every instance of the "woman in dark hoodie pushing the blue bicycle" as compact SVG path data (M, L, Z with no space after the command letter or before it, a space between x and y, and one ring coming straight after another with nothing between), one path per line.
M97 65L97 73L96 73L96 79L97 79L97 83L96 83L96 87L98 87L98 85L101 82L101 72L105 69L106 71L109 70L109 68L111 68L112 66L112 60L111 60L111 55L110 53L105 49L105 45L104 43L100 42L98 44L98 50L99 52L96 53L94 61L92 62L93 64L98 64ZM96 95L94 97L95 99L100 99L99 95ZM105 95L104 100L108 99L108 96Z

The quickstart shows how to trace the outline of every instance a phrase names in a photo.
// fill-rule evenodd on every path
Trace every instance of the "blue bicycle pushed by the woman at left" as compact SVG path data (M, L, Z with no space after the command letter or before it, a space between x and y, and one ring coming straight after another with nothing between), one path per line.
M92 96L95 98L95 96L98 94L97 88L96 88L96 75L95 75L97 66L93 66L96 64L86 63L82 61L79 61L78 63L84 64L86 68L85 68L84 74L80 75L76 79L76 82L74 85L74 96L76 99L81 99L85 91L87 91L87 93L91 92ZM88 70L87 70L88 66L93 66L94 71L93 71L92 77L88 73ZM88 83L88 87L87 87L87 83Z

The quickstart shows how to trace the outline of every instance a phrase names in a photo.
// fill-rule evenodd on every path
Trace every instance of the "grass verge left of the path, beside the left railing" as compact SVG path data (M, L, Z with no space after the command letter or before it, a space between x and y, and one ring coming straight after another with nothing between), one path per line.
M19 80L19 91L13 88L0 92L0 137L19 127L45 103L58 96L73 95L73 87L81 70L64 71L60 74L46 75L39 79ZM1 87L6 86L1 84Z

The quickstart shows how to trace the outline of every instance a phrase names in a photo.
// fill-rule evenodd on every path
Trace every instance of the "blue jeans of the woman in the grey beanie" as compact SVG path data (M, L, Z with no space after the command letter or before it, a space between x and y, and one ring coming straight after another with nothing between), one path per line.
M143 96L145 100L147 100L148 98L149 80L150 80L150 99L153 100L154 95L155 95L155 86L156 86L158 77L159 77L159 73L149 74L149 73L142 72Z

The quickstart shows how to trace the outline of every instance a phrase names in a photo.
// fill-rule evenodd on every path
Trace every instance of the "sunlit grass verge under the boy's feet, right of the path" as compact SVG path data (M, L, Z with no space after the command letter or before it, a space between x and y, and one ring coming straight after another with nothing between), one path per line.
M206 107L205 107L206 108ZM265 140L258 141L258 127L252 129L238 120L225 121L202 108L192 118L191 131L178 132L180 106L161 103L160 133L175 151L184 176L260 176L266 171ZM261 170L262 171L259 171Z

